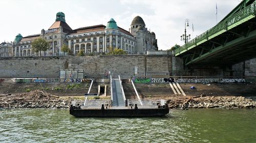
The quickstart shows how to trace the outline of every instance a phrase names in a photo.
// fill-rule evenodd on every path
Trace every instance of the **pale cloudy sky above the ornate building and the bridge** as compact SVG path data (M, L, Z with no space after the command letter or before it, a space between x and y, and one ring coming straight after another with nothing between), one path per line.
M156 34L159 50L183 45L180 36L186 27L191 39L222 20L241 0L0 0L0 42L11 42L17 34L23 37L40 34L55 22L56 13L65 13L74 30L103 24L114 18L117 25L129 31L134 17L140 16L146 27ZM193 25L193 26L192 26ZM193 28L194 27L194 32Z

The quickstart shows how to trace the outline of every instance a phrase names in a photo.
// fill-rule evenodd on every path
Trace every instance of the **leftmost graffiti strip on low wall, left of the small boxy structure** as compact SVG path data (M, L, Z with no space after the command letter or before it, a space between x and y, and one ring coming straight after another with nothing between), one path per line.
M14 82L18 83L47 83L47 82L59 82L58 78L15 78L12 79Z

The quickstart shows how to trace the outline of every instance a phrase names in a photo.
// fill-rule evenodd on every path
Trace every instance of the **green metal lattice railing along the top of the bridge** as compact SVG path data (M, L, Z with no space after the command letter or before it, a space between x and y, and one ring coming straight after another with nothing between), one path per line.
M181 51L187 49L188 47L196 45L199 42L202 42L203 40L208 40L208 37L210 37L214 34L217 34L221 31L225 32L227 30L228 26L231 26L232 24L234 24L250 15L254 15L254 17L255 17L255 5L256 5L256 2L253 2L251 5L247 6L242 11L240 11L240 12L234 14L233 16L225 19L224 21L218 23L216 26L210 28L209 30L207 30L203 34L197 36L193 40L188 41L183 46L175 49L175 54L178 54Z

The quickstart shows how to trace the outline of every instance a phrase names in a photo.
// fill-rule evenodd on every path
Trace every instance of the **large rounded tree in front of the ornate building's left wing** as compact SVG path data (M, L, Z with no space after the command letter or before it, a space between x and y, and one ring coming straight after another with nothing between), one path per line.
M46 51L50 48L49 43L45 39L35 39L32 43L32 50L35 52L39 51L39 56L41 55L41 51Z

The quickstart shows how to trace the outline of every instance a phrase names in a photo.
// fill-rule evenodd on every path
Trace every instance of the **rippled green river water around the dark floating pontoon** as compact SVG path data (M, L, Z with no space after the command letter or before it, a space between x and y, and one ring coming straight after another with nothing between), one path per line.
M255 109L170 110L162 118L75 118L0 109L0 142L256 142Z

